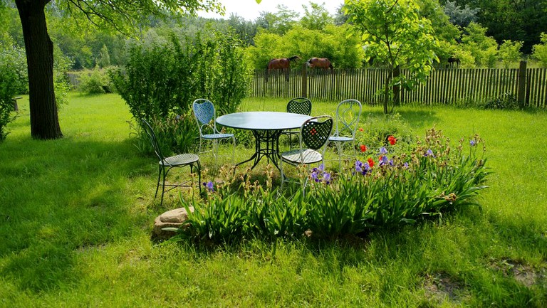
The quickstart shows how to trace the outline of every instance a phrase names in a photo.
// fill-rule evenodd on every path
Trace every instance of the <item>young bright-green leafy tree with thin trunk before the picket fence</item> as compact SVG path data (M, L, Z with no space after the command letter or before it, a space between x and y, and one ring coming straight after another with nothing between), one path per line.
M365 54L381 60L390 70L384 85L387 114L387 104L395 94L392 87L411 90L425 82L433 61L438 61L431 22L420 17L419 7L412 0L346 0L345 13L367 47ZM406 68L408 75L397 76L397 68Z

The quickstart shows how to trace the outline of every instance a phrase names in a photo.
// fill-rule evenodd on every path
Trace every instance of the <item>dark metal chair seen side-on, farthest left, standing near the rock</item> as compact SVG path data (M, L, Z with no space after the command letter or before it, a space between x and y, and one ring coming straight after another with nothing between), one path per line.
M190 166L190 173L194 172L194 167L197 167L197 176L198 176L198 184L199 191L202 191L202 187L199 186L199 183L202 181L202 166L199 164L199 157L196 154L178 154L175 156L165 157L163 156L162 149L160 148L160 145L157 144L157 138L156 134L154 133L154 130L150 126L150 124L144 120L140 120L142 122L142 127L144 127L146 134L150 138L150 142L152 142L152 147L154 148L154 152L156 153L156 156L158 159L160 159L158 166L159 166L159 172L157 174L157 185L156 185L156 193L154 195L154 198L157 197L157 191L160 188L160 179L162 179L162 201L161 205L163 205L163 195L165 194L165 186L170 187L167 189L167 191L172 190L176 187L189 187L189 185L186 185L189 181L192 181L192 179L189 179L188 181L185 181L182 184L165 184L165 177L167 177L167 173L172 168L175 167L183 167L183 166Z

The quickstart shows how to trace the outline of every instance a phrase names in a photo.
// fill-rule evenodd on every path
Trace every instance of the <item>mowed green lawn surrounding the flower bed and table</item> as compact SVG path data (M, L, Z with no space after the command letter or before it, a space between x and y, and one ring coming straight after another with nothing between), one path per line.
M545 111L397 110L416 135L435 126L454 144L486 140L481 208L363 239L202 247L150 240L178 196L163 206L153 198L157 161L137 154L118 95L71 95L59 112L65 137L47 142L31 139L28 98L19 102L0 144L0 307L547 306ZM241 108L285 105L247 99ZM335 105L314 102L313 115ZM363 121L380 112L365 107ZM221 154L231 159L231 149ZM239 146L234 160L251 154Z

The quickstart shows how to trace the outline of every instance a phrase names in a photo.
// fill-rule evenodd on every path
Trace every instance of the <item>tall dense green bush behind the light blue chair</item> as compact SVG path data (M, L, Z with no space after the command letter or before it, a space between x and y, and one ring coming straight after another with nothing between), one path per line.
M157 37L132 43L129 54L125 68L111 77L137 119L187 115L199 97L212 100L222 115L234 112L246 95L249 73L233 36Z

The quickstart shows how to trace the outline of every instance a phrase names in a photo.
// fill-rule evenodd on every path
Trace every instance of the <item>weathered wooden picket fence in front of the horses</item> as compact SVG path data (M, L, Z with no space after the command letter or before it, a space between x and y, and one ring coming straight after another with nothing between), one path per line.
M521 72L526 72L521 75ZM288 74L256 70L251 83L253 97L298 97L339 101L348 98L368 105L382 102L383 84L388 71L380 68L346 70L293 69ZM401 72L405 73L404 70ZM526 78L524 78L526 77ZM427 83L413 91L402 91L401 102L459 105L486 102L513 95L522 105L547 107L547 69L448 68L434 70Z

